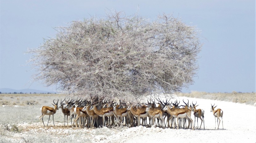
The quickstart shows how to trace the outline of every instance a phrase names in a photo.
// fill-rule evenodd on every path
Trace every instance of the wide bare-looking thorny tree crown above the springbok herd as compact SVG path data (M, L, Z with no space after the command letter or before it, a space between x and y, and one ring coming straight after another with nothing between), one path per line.
M85 98L138 102L171 96L193 83L201 44L195 26L171 15L151 21L107 13L59 27L55 38L30 49L35 80Z

